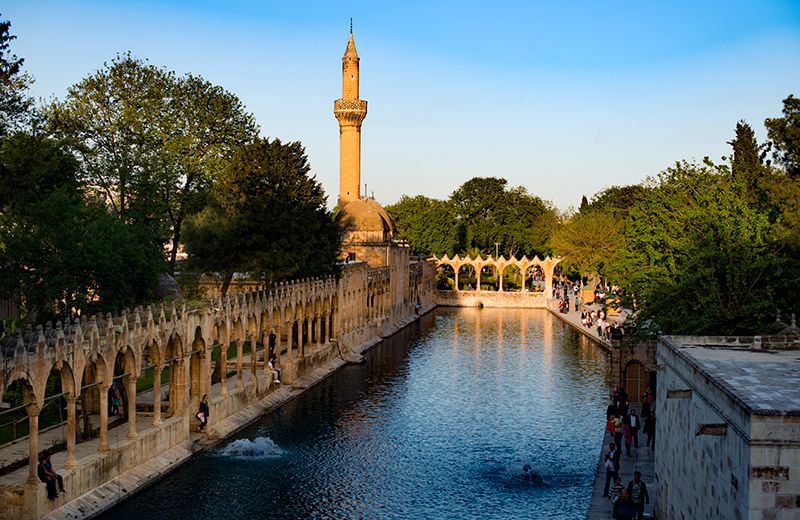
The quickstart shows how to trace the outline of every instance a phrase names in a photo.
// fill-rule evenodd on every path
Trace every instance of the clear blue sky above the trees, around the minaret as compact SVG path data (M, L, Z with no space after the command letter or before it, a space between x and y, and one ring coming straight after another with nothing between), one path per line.
M300 140L338 194L341 57L361 57L362 189L386 205L499 176L566 210L676 160L729 153L736 122L800 96L800 2L7 0L34 94L131 51L235 93Z

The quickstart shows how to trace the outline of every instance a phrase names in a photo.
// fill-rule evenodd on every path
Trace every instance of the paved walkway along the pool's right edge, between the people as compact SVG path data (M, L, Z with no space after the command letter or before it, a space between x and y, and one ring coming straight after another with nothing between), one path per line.
M599 305L586 305L586 308L594 308L598 309ZM574 307L573 307L574 308ZM593 340L601 343L604 348L611 349L611 343L607 340L601 339L597 335L597 328L595 327L584 327L581 325L581 313L580 311L570 311L567 314L561 314L557 310L554 310L553 313L563 320L564 322L568 323L572 327L576 328L582 334L589 336ZM624 315L620 316L611 316L608 321L622 321L625 319ZM609 389L610 390L610 389ZM609 391L609 401L611 398L611 392ZM637 413L640 412L641 406L638 404L632 404L632 408L636 410ZM602 428L604 430L603 434L603 443L600 448L600 457L597 461L597 473L594 479L594 486L592 487L592 499L589 504L589 510L586 512L586 520L607 520L611 518L611 508L612 504L608 498L604 498L603 495L603 487L606 482L606 468L603 464L605 454L608 453L608 445L609 443L613 442L613 436L605 431L605 417L598 417L597 418L597 427ZM650 504L646 505L644 508L644 518L652 518L653 514L653 494L655 492L655 485L654 485L654 464L653 464L653 450L645 446L646 437L643 433L639 433L640 442L639 447L634 448L631 446L631 456L625 456L625 446L622 446L622 456L620 457L620 471L619 476L622 478L622 484L627 486L628 483L633 480L633 472L640 471L642 473L642 480L647 484L647 491L650 495Z

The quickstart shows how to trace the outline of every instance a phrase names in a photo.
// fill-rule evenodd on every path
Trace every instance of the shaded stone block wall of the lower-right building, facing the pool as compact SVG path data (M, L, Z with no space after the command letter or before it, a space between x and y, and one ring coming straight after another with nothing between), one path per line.
M656 400L657 518L756 520L749 503L749 413L668 339L659 342L657 362L665 366ZM722 423L725 435L700 433L703 425Z

